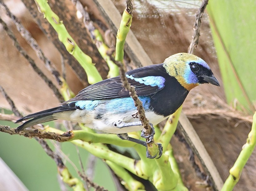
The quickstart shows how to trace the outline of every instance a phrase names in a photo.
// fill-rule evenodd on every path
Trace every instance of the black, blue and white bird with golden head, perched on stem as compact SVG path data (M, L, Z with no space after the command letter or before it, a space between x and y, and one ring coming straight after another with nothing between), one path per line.
M219 86L210 67L201 58L178 53L164 63L131 70L126 73L143 103L146 117L153 125L174 113L184 102L189 91L199 84ZM24 122L20 131L38 123L56 119L82 122L87 127L118 134L123 139L136 142L128 132L142 129L134 101L122 86L120 77L105 79L81 90L76 97L58 107L30 114L19 119ZM144 141L137 143L145 145Z

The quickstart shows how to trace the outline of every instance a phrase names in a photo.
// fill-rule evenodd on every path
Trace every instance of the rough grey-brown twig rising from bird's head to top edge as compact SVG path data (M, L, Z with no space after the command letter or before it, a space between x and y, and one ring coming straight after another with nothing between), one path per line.
M196 20L195 20L195 23L193 26L194 36L192 38L192 41L191 41L191 43L188 47L188 51L187 51L189 54L193 54L195 48L198 45L199 36L200 36L201 18L204 13L204 10L207 6L207 3L208 3L208 0L203 0L200 8L198 9L198 11L196 13Z

